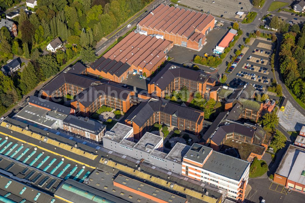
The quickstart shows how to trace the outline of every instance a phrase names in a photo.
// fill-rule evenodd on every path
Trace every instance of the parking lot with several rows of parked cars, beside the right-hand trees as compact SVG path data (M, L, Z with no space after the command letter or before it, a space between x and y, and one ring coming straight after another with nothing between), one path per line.
M253 44L249 45L247 51L243 52L242 59L228 75L227 83L237 83L237 80L239 80L239 83L244 81L250 85L254 84L257 91L265 92L267 86L271 84L271 78L273 78L269 63L272 50L271 41L255 39ZM262 61L264 61L264 64L262 64Z

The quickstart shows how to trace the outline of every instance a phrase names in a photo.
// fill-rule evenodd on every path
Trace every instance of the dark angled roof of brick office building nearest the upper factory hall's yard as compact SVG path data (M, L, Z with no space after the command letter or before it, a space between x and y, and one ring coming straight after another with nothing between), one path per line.
M184 68L181 66L173 65L168 63L151 81L149 84L155 84L161 90L170 84L172 80L176 77L185 78L188 80L198 81L200 83L205 83L210 75L203 73L201 70L196 71L189 68ZM213 81L211 81L213 82Z

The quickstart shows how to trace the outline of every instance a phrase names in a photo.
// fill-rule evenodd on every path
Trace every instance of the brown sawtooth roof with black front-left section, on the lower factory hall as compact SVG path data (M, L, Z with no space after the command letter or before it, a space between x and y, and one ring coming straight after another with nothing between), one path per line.
M131 32L92 65L92 69L104 73L122 75L131 65L152 69L166 56L164 50L170 45L167 40Z

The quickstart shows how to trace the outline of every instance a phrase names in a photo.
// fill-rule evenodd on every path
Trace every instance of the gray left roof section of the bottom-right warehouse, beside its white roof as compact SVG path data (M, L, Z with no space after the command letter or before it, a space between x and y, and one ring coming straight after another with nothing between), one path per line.
M278 166L278 169L276 169L276 173L278 175L288 177L292 172L292 168L295 164L297 166L299 166L300 164L304 165L304 159L300 163L296 162L296 159L298 158L299 154L304 154L304 153L305 153L305 149L297 147L295 145L289 145L285 155L283 156Z

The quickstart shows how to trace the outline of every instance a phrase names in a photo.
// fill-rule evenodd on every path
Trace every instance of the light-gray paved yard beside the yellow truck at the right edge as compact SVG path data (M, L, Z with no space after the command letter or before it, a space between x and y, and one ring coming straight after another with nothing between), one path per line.
M303 116L292 104L287 101L284 111L278 112L279 123L287 131L300 131L305 125L305 116Z

